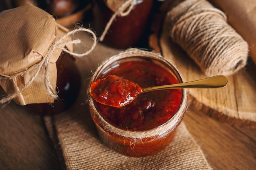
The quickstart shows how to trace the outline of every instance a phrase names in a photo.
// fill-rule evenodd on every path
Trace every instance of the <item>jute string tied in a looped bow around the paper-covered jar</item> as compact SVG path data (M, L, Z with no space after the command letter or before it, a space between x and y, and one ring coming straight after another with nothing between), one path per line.
M56 29L57 29L57 26L56 26ZM86 51L85 53L74 53L74 52L71 52L65 48L63 48L63 46L65 45L68 45L68 44L79 44L81 43L81 40L79 39L76 39L76 40L72 40L72 41L67 41L67 37L71 36L71 35L74 35L75 33L79 32L79 31L85 31L85 32L88 32L90 34L92 34L92 37L93 37L93 44L91 46L91 48ZM90 54L93 49L95 48L96 44L97 44L97 37L95 35L95 33L90 30L90 29L85 29L85 28L79 28L79 29L75 29L73 31L69 31L67 32L65 35L63 36L60 36L60 35L57 35L57 30L55 31L56 32L56 36L55 36L55 40L54 42L52 43L52 45L49 47L47 53L45 54L45 56L43 57L43 59L34 64L33 66L29 67L27 70L25 71L21 71L19 73L16 73L16 74L13 74L11 75L10 77L4 77L4 76L0 76L0 80L1 79L13 79L15 77L18 77L18 76L21 76L21 75L24 75L25 73L29 73L29 72L33 72L33 76L31 76L31 78L29 79L28 83L25 84L25 86L23 88L21 88L19 91L11 94L11 95L7 95L5 97L3 97L1 100L0 100L0 103L1 104L6 104L8 102L10 102L13 98L17 97L18 95L20 95L23 91L25 91L30 85L31 83L34 81L34 79L36 78L36 76L40 73L41 69L45 69L45 73L44 73L44 84L45 84L45 87L47 89L47 92L49 93L49 97L52 97L54 99L57 99L58 98L58 95L55 91L55 88L52 87L51 85L51 80L49 78L49 62L50 62L50 58L52 56L52 54L54 53L54 51L56 49L61 49L63 51L65 51L66 53L69 53L70 55L73 55L73 56L76 56L76 57L83 57L85 55L88 55Z

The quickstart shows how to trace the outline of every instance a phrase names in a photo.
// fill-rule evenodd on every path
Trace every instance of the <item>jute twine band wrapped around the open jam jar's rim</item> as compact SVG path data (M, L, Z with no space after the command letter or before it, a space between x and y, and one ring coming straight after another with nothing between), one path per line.
M102 62L101 65L98 66L98 68L95 71L94 75L92 76L90 82L95 81L95 79L97 78L97 76L99 75L99 73L101 71L102 66L106 66L106 64L109 61L111 61L111 60L115 61L115 59L117 57L119 60L119 59L123 59L126 57L137 57L137 56L150 57L150 58L154 58L156 60L165 60L160 54L157 54L157 53L144 51L144 50L140 50L140 49L136 49L136 48L128 49L128 50L123 51L117 55L114 55L114 56L110 57L109 59L105 60L104 62ZM91 108L90 109L91 115L92 115L92 117L97 117L97 119L99 119L99 121L103 124L103 129L101 129L101 130L105 131L105 132L114 132L115 134L120 135L124 139L132 139L133 141L137 141L140 139L147 139L150 137L159 137L161 135L162 135L162 137L164 137L164 135L166 135L166 133L174 130L176 128L176 126L178 124L180 124L180 122L182 121L182 115L184 114L186 107L187 107L187 105L186 105L186 101L187 101L186 89L183 89L183 95L182 95L183 99L181 101L180 108L177 110L177 113L175 113L175 115L169 121L167 121L165 124L163 124L162 126L159 126L157 128L153 128L151 130L144 130L144 131L122 130L120 128L113 126L108 121L106 121L102 117L102 115L97 111L97 108L94 106L93 99L90 96L89 88L90 87L88 87L87 94L89 97L88 103Z

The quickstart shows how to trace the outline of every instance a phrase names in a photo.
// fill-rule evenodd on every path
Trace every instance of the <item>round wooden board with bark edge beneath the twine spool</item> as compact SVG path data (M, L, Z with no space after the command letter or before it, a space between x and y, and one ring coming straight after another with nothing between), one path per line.
M172 60L184 82L206 78L193 60L168 36L166 22L150 35L150 46ZM245 68L228 76L228 85L217 89L189 89L188 107L229 124L256 128L256 66L249 59Z

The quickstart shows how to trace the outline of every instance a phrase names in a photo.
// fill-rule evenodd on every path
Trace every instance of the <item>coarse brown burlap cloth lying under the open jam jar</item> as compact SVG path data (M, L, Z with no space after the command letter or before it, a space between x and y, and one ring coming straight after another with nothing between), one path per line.
M79 35L82 39L83 35ZM90 45L85 45L90 46ZM76 63L82 75L81 93L70 110L44 117L45 125L64 169L67 170L210 170L202 150L182 123L174 141L162 152L150 157L127 157L110 150L97 135L86 103L86 87L101 61L117 51L98 44L88 57Z

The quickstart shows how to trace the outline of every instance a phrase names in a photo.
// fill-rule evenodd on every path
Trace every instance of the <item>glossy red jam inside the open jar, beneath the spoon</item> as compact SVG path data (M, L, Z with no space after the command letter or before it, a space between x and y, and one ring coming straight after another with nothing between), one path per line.
M117 75L123 79L128 79L139 84L142 88L179 83L164 68L143 61L120 63L98 78L106 78L108 75ZM117 87L115 90L120 89ZM180 106L181 98L181 89L172 89L139 94L134 101L121 108L107 106L95 101L94 105L110 124L126 130L149 130L171 119Z

